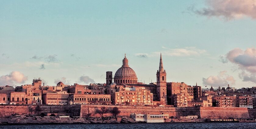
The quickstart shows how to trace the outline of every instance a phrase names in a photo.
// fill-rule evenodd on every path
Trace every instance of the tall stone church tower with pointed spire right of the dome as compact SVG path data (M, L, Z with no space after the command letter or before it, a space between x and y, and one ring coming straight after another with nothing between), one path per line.
M167 98L166 98L166 72L163 67L162 61L162 54L160 55L160 64L159 70L156 72L156 90L158 94L158 100L160 101L161 105L167 105Z

